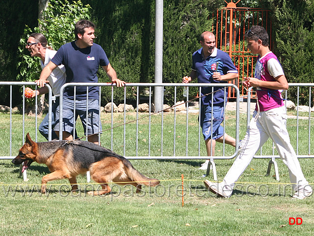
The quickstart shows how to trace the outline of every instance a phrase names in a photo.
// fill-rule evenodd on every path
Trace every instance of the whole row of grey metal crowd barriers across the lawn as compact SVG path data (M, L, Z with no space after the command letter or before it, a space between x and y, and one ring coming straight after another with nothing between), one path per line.
M10 86L10 111L9 111L9 117L10 117L10 122L9 122L9 154L8 155L2 155L0 156L0 159L13 159L15 156L13 155L12 156L12 86L23 86L23 91L25 90L25 86L33 86L34 83L33 82L0 82L0 85L4 85L4 86ZM213 176L214 176L214 179L216 179L216 169L215 169L215 164L214 164L214 159L232 159L235 157L236 155L236 152L237 152L237 148L235 148L235 152L234 153L231 153L229 155L225 155L225 145L223 145L223 155L221 156L210 156L208 157L207 155L202 155L201 154L201 128L200 128L200 125L198 125L198 146L195 148L190 148L190 144L189 144L189 135L191 135L189 133L189 129L191 129L191 126L195 126L195 124L192 124L190 125L190 121L189 121L189 103L187 102L189 100L189 95L188 95L188 91L187 91L187 97L186 97L186 100L184 102L187 102L186 103L186 132L185 132L185 153L182 153L181 152L178 152L176 150L176 144L177 144L177 139L178 137L176 136L176 128L177 128L177 122L176 122L176 119L177 119L177 116L176 116L176 107L173 108L173 138L171 140L171 143L173 145L173 148L172 148L172 152L169 152L167 148L164 148L165 146L165 142L164 142L164 128L163 126L166 126L164 125L164 111L161 111L159 113L159 116L161 117L161 120L159 122L159 125L160 125L160 130L158 130L158 132L160 132L160 140L159 140L159 146L157 147L158 150L159 150L159 153L156 154L156 143L155 141L152 139L152 134L155 134L156 135L156 132L154 130L152 130L152 115L157 115L157 114L154 114L151 112L151 108L152 108L152 89L155 88L155 87L161 87L162 88L162 91L164 91L164 88L166 87L174 87L174 101L173 101L173 104L176 104L177 103L177 88L179 87L187 87L187 90L188 88L191 88L191 87L198 87L199 88L199 93L200 93L200 89L202 87L212 87L212 90L214 87L221 87L221 84L220 85L209 85L209 84L127 84L126 87L124 88L124 112L123 112L123 121L122 123L118 123L116 124L115 122L115 118L113 116L113 87L112 87L112 84L111 83L91 83L91 84L85 84L85 83L80 83L80 84L66 84L64 85L64 88L67 87L67 86L87 86L87 91L88 91L88 86L99 86L99 87L102 87L102 86L111 86L111 120L110 120L110 127L105 131L109 131L110 130L110 143L109 143L109 146L110 148L113 150L113 149L117 149L115 150L116 152L118 153L122 153L123 152L123 155L126 156L128 159L210 159L210 164L209 164L209 167L211 166L212 169L213 169ZM233 87L232 84L225 84L224 86L226 86L224 89L228 88L228 87ZM313 148L311 149L311 119L313 119L311 117L311 87L314 87L314 84L295 84L295 83L289 83L289 86L292 87L292 86L295 86L297 87L297 105L296 107L299 107L299 97L300 97L300 94L299 94L299 87L309 87L309 94L310 94L310 97L309 97L309 101L308 101L308 104L309 104L309 111L308 111L308 116L306 118L307 120L307 126L306 126L306 130L307 130L307 139L308 139L308 151L307 153L303 153L299 151L299 136L302 135L303 139L304 139L304 131L301 132L300 131L300 120L302 121L302 127L304 127L304 116L299 116L299 110L297 109L296 110L296 116L294 117L288 117L288 119L293 119L295 120L296 122L296 133L295 135L293 136L293 138L291 138L291 143L294 142L294 139L296 141L296 145L295 145L295 150L296 150L296 153L297 153L297 157L298 158L313 158L314 155L313 155ZM52 132L52 128L51 128L51 107L52 107L52 91L51 91L51 88L49 85L47 85L48 89L49 89L49 140L51 140L51 132ZM130 121L127 121L127 112L126 112L126 88L127 87L134 87L136 88L136 117L133 121L131 122L135 122L136 123L136 128L135 128L135 144L132 146L132 148L135 149L135 151L133 152L133 155L129 155L127 156L126 153L131 153L130 149L126 150L126 147L128 146L127 143L127 129L128 129L128 122ZM140 127L142 124L139 123L139 118L141 117L140 116L140 113L138 111L138 105L140 103L140 92L139 92L139 89L143 89L143 87L146 88L146 90L148 91L149 93L149 96L148 96L148 101L149 101L149 112L148 112L148 115L147 115L147 118L148 118L148 146L146 147L147 148L147 153L146 154L142 154L143 151L139 151L140 148L140 145L139 145L139 142L140 142L140 137L139 137L139 133L141 132L140 131ZM63 91L64 88L61 88L61 90ZM234 87L235 89L237 89L237 87ZM251 91L252 88L249 89L249 93L248 93L248 100L247 100L247 111L250 111L250 103L251 103L251 96L250 96L250 91ZM63 92L61 92L61 94L63 94ZM287 99L287 91L283 93L285 95L285 99ZM164 94L163 94L164 95ZM24 97L24 96L23 96ZM99 101L101 100L101 94L99 95ZM238 142L239 140L239 130L238 130L238 127L239 127L239 95L237 95L237 99L236 99L236 123L235 123L235 127L236 127L236 131L235 131L235 138L236 138L236 141ZM199 102L200 101L200 98L193 98L196 102ZM37 99L35 100L36 101L36 104L35 104L35 107L37 108ZM163 101L162 101L162 104L163 104ZM60 96L60 111L62 112L62 95ZM75 105L75 104L74 104ZM99 106L101 106L101 104L99 103ZM287 105L286 105L286 108L287 108ZM23 111L23 121L22 121L22 138L23 138L23 142L21 142L21 144L24 143L24 138L25 138L25 98L23 98L23 105L22 105L22 111ZM88 109L86 109L86 111L88 111ZM195 111L195 110L194 110ZM198 113L200 113L201 110L199 108L198 110ZM37 114L37 109L35 111L35 113ZM250 122L250 119L251 119L251 114L249 112L247 112L247 124L249 124ZM225 120L224 119L224 127L225 127ZM168 122L168 121L166 121ZM114 131L114 129L116 128L115 126L120 126L122 125L123 126L123 135L121 135L121 132L120 131ZM35 116L35 141L37 141L37 116ZM121 138L122 142L120 141L120 144L122 144L121 146L123 147L123 149L121 150L121 148L117 148L116 147L116 135L114 136L114 134L116 133L119 133L119 137ZM61 133L60 133L61 134ZM17 134L15 134L16 136ZM104 135L106 135L104 133ZM290 134L291 135L291 134ZM295 138L294 138L295 137ZM61 138L62 138L62 134L61 134ZM167 145L169 146L169 142L168 140L166 141ZM130 146L130 145L129 145ZM271 147L274 147L274 144L272 144ZM269 147L268 147L269 148ZM152 153L152 149L154 150ZM166 149L166 150L164 150ZM197 152L198 154L197 155L193 155L193 154L190 154L190 150L193 149L192 152L196 152L195 149L197 149ZM258 153L254 156L254 158L266 158L266 159L270 159L269 161L269 164L268 164L268 168L267 168L267 175L270 174L270 170L271 170L271 166L274 165L274 169L275 169L275 176L276 176L276 179L279 180L279 175L278 175L278 167L277 167L277 163L276 163L276 158L279 158L279 155L276 155L276 151L275 151L275 148L272 148L271 149L271 153L264 153L264 146L261 148L261 150L259 151L260 154L258 155ZM18 151L14 149L14 151ZM166 152L167 155L164 155L164 152ZM170 154L171 153L171 154ZM178 154L179 153L179 154ZM170 154L170 155L169 155ZM207 170L207 175L209 174L209 168ZM26 172L24 173L24 178L26 179Z

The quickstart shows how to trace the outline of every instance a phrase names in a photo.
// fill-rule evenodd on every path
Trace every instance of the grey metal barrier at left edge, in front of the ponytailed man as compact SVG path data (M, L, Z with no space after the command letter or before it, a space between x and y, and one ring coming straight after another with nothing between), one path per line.
M15 155L12 156L12 144L13 144L13 140L14 141L17 141L18 140L18 137L19 138L22 138L22 142L20 143L20 147L22 147L22 144L25 142L25 123L26 123L26 116L25 116L25 110L26 110L26 99L25 99L25 96L24 96L24 93L25 93L25 86L35 86L35 83L34 82L0 82L0 86L9 86L10 87L10 106L9 106L9 141L8 141L8 144L9 144L9 150L8 150L8 153L7 155L3 155L1 153L0 155L0 159L13 159L15 157ZM22 112L22 115L23 115L23 119L22 119L22 132L17 134L13 134L12 133L12 113L13 113L13 107L12 107L12 96L13 96L13 93L12 93L12 87L13 86L23 86L23 103L22 103L22 106L21 106L21 109L22 111L19 111L19 112ZM48 120L48 123L49 123L49 140L51 140L51 132L52 132L52 89L49 85L46 85L46 87L48 88L49 92L48 92L48 105L49 105L49 110L48 110L48 114L49 114L49 120ZM37 89L37 86L35 86L35 89ZM37 93L35 95L35 142L37 142L37 113L38 113L38 110L37 110ZM22 134L22 137L21 137L21 134ZM14 135L14 139L12 138L12 135ZM2 137L4 136L4 134L2 134ZM5 144L3 144L5 145ZM16 144L15 145L19 145L19 144ZM13 151L17 154L18 151L19 151L19 148L15 148ZM4 153L5 154L5 153ZM22 165L21 165L22 167ZM22 175L21 173L21 168L20 168L20 175ZM23 172L23 178L24 180L26 180L27 178L27 174L26 174L26 170Z

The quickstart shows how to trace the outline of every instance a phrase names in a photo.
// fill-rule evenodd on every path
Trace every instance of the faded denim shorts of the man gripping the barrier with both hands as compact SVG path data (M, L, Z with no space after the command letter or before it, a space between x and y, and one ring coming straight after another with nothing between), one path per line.
M76 100L75 103L75 120L78 116L82 121L84 128L84 135L91 135L102 131L102 123L99 123L100 117L100 107L99 100L89 99L88 100L88 119L87 119L87 134L86 134L86 100ZM63 108L63 131L67 131L73 135L74 129L74 100L63 98L62 103ZM59 109L58 106L55 113L55 124L54 130L59 131Z

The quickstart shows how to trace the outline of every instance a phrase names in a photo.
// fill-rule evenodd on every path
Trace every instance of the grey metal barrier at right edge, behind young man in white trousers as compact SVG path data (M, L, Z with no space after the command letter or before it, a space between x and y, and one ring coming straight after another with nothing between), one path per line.
M311 108L311 100L312 100L312 97L311 97L311 89L312 87L314 87L314 83L311 83L311 84L306 84L306 83L289 83L288 84L289 87L297 87L297 94L296 94L296 101L297 101L297 104L295 105L295 109L296 109L296 115L290 115L288 116L288 120L295 120L295 126L296 126L296 130L295 130L295 133L289 133L290 135L290 140L291 140L291 144L293 144L293 141L295 141L295 151L296 151L296 154L297 154L297 157L298 158L314 158L314 147L312 147L311 149L311 120L314 120L314 117L311 117L311 112L314 112ZM309 100L308 100L308 111L305 112L305 113L308 113L307 117L304 117L304 116L299 116L300 114L300 106L299 106L299 100L300 100L300 92L299 92L299 88L300 87L308 87L309 88ZM248 89L248 99L247 99L247 109L248 111L250 110L250 103L251 103L251 91L252 91L252 88L249 88ZM288 101L288 97L287 97L287 94L288 94L288 91L283 91L283 97L286 101ZM286 106L286 111L287 111L287 102L285 104ZM294 106L292 106L292 109L294 108ZM251 114L248 112L247 113L247 126L249 125L249 122L251 120ZM300 130L300 121L302 120L302 127L303 127L303 130L301 132ZM307 124L305 124L307 123ZM304 131L305 130L305 131ZM307 133L307 134L306 134ZM291 136L293 135L293 137L291 138ZM306 135L306 136L305 136ZM304 139L305 137L307 138L308 140L308 147L307 147L307 153L302 153L300 154L300 147L299 147L299 137L300 136L303 136L302 138ZM295 139L295 140L294 140ZM263 146L264 147L264 146ZM266 172L266 175L270 175L270 171L271 171L271 167L272 165L274 166L274 171L275 171L275 177L276 179L279 181L280 180L280 177L279 177L279 172L278 172L278 166L277 166L277 162L276 162L276 158L280 158L280 156L278 155L277 151L275 150L274 148L274 143L272 143L272 148L271 148L271 153L268 153L268 154L265 154L264 152L264 148L261 148L258 154L258 152L256 153L256 155L254 156L254 158L270 158L269 160L269 163L268 163L268 167L267 167L267 172Z

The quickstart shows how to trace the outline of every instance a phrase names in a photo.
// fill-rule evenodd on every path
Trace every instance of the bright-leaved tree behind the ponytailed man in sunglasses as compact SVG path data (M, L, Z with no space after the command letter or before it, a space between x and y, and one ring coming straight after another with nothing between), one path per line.
M43 13L42 19L38 21L38 26L30 29L27 25L24 35L20 39L19 53L21 61L17 63L20 73L17 75L18 81L35 81L39 79L41 72L40 60L31 58L25 49L29 34L33 32L42 33L48 41L48 45L57 50L61 45L75 39L75 23L80 19L90 18L89 5L83 5L80 0L70 3L68 0L50 0L48 8ZM62 30L61 30L62 29Z

